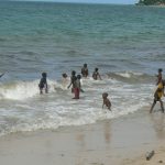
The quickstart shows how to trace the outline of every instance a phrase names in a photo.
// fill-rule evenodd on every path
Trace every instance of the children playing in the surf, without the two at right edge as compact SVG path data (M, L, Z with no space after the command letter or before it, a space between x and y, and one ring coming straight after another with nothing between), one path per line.
M81 84L80 84L81 76L85 78L87 78L89 76L87 64L84 64L84 66L81 68L81 75L76 76L76 72L75 70L72 72L70 84L68 85L67 88L69 89L72 87L72 92L75 95L73 99L79 99L79 94L84 92L84 90L81 89ZM41 95L43 94L43 90L45 90L46 94L48 92L48 86L47 86L46 77L47 77L46 73L42 73L42 78L41 78L40 84L38 84ZM63 74L63 78L66 79L67 74ZM101 79L101 76L99 74L98 68L95 68L95 72L92 73L92 78L95 80ZM102 99L103 99L102 108L105 106L107 106L107 108L109 110L111 110L111 102L108 99L107 92L102 94Z

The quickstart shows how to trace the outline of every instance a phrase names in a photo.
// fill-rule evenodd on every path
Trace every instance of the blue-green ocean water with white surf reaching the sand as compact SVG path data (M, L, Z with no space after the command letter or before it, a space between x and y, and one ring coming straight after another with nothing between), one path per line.
M148 108L165 64L165 8L0 2L0 135L111 120ZM62 74L80 73L79 100ZM95 67L102 80L92 80ZM47 95L38 94L41 73ZM69 84L69 80L68 80ZM107 91L112 112L102 110Z

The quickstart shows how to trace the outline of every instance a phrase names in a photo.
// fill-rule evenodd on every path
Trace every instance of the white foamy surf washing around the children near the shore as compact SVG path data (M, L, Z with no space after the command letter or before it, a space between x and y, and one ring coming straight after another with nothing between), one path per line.
M0 86L1 98L8 102L7 107L4 105L7 109L0 108L1 134L2 132L56 129L62 125L81 125L127 116L150 105L154 87L148 84L129 85L116 79L97 81L87 78L82 79L85 92L80 94L79 100L74 100L70 89L63 88L63 84L58 81L48 80L50 94L43 96L38 95L37 84L38 80ZM101 108L101 95L105 91L109 94L112 111ZM19 102L12 105L8 99ZM4 118L6 116L8 119Z

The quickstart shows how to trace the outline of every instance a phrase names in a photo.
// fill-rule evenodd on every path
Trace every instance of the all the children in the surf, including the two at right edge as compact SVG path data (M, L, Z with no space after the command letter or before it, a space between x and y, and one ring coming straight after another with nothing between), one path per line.
M162 97L165 96L164 94L165 80L163 80L162 78L162 72L163 69L160 68L158 75L157 75L157 81L156 81L157 89L154 92L154 101L150 109L150 113L152 113L157 101L160 101L162 112L164 113L164 106L163 106ZM67 88L69 89L72 87L72 92L75 95L73 99L79 99L80 91L84 92L84 90L81 89L80 79L81 79L81 76L87 78L88 75L89 75L89 72L88 72L87 64L84 64L84 67L81 68L81 75L76 76L76 72L75 70L72 72L70 84L68 85ZM43 90L45 90L45 92L48 92L46 76L47 76L46 73L42 73L42 78L38 84L40 94L43 94ZM63 78L67 78L67 75L63 74ZM92 78L95 80L101 79L98 68L95 68L95 72L92 73ZM108 99L107 92L102 94L102 99L103 99L102 108L106 106L109 110L111 110L111 102Z

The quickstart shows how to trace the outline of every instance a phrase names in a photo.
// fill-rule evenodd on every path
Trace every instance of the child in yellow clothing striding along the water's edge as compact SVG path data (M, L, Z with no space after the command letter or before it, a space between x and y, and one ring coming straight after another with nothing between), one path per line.
M154 101L153 101L153 105L152 105L152 107L150 109L150 113L152 113L153 108L155 107L155 105L156 105L157 101L160 101L161 108L162 108L162 112L164 113L164 106L163 106L163 101L161 99L163 96L165 96L164 95L164 86L165 86L165 81L161 80L158 82L157 89L156 89L156 91L154 94Z

